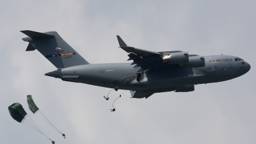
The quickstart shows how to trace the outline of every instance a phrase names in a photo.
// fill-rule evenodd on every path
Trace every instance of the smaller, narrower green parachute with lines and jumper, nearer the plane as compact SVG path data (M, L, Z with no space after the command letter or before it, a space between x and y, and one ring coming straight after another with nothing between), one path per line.
M65 134L63 134L60 130L58 130L51 122L50 120L48 120L48 118L46 118L46 116L40 111L40 109L36 106L34 100L32 99L32 95L28 95L27 96L27 101L28 101L28 107L29 109L32 111L32 113L36 113L37 111L42 115L44 116L45 120L47 120L47 122L49 122L49 124L52 125L52 127L54 127L54 129L56 129L56 131L60 132L60 134L66 138ZM38 113L37 112L37 113Z

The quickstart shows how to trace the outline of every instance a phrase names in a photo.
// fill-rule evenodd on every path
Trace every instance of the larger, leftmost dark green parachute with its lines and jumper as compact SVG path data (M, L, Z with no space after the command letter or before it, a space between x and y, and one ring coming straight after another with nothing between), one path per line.
M26 113L26 111L24 110L21 104L19 104L18 102L15 102L11 106L8 106L8 110L14 120L16 120L19 123L27 123L28 126L30 126L32 129L34 129L35 131L45 136L45 134L39 129L39 127L35 124L35 122L31 120L31 118L28 116L28 114ZM48 138L47 136L45 137ZM48 138L48 139L52 141L51 138Z

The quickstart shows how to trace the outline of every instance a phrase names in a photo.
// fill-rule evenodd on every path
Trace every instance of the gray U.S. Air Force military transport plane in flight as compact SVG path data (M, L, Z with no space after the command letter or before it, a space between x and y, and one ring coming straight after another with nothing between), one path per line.
M192 92L195 84L216 83L242 76L250 65L237 56L198 56L182 51L154 52L130 47L117 36L131 63L90 64L56 31L21 31L29 42L58 68L45 76L63 81L130 90L132 98L148 98L161 92Z

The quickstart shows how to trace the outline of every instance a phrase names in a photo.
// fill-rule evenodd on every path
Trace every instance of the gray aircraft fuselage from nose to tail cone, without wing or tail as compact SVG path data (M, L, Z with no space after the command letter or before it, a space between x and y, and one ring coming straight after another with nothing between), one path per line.
M190 84L216 83L242 76L250 70L246 61L236 56L205 56L205 67L189 68L180 65L163 65L140 72L131 63L99 63L60 68L45 74L63 81L92 84L106 88L145 92L170 92Z

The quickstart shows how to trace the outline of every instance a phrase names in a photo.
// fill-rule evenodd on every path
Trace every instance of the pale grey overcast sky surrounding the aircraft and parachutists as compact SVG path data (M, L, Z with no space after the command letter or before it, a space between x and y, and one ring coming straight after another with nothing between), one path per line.
M0 1L0 143L51 143L12 119L19 102L58 143L255 143L255 1ZM195 86L195 92L130 99L124 91L44 76L56 70L38 51L26 52L20 30L57 31L89 63L120 63L116 35L150 51L227 54L250 63L247 74ZM26 95L67 138L28 109Z

